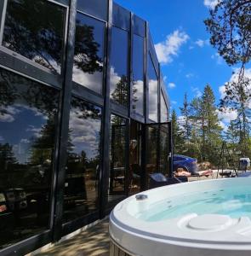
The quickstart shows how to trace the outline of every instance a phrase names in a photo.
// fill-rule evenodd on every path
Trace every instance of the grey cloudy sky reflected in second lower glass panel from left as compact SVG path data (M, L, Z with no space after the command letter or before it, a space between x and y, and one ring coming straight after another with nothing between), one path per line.
M72 151L75 154L84 151L88 160L100 154L101 109L98 107L94 109L95 113L90 108L72 107L70 113L69 135L73 144Z

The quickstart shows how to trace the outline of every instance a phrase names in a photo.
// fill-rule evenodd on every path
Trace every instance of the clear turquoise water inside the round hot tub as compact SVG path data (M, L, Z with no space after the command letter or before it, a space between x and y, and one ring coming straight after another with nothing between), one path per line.
M225 214L231 218L247 216L251 218L251 184L235 188L205 191L167 198L152 204L147 211L140 212L136 218L154 222L182 217L189 213Z

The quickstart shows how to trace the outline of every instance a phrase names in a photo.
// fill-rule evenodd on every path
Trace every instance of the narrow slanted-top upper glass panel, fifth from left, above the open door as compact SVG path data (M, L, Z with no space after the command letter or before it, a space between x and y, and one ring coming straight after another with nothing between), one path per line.
M148 86L149 86L149 116L152 121L157 122L157 74L151 55L148 55Z

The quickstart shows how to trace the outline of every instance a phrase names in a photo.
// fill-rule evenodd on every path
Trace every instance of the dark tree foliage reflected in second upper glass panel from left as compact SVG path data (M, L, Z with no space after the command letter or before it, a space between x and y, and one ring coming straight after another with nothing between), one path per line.
M76 21L74 65L84 73L102 72L102 59L98 55L100 44L94 39L94 26Z

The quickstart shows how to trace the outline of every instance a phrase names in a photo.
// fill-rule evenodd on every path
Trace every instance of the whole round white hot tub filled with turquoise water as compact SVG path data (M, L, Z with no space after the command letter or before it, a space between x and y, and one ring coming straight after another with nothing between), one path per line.
M250 219L251 177L147 190L111 212L111 255L250 256Z

